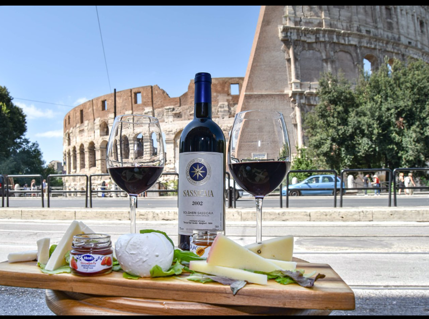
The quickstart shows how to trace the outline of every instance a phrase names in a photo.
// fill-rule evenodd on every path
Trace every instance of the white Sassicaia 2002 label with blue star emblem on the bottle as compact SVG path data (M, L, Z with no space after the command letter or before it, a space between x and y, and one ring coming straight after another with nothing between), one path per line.
M179 234L223 230L223 153L179 154Z

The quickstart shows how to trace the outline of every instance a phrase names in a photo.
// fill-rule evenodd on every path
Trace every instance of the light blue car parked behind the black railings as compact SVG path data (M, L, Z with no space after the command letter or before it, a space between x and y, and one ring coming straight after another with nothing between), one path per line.
M289 185L289 196L316 196L334 195L334 190L322 191L319 189L334 188L335 175L314 175L304 179L298 184ZM340 192L341 179L337 176L337 194ZM345 194L345 184L342 183L343 194ZM282 190L282 195L286 196L286 186Z

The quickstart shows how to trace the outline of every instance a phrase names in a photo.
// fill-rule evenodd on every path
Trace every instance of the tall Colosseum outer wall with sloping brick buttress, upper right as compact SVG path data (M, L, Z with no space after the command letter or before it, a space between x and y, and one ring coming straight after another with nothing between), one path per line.
M394 58L429 63L429 6L262 6L238 110L282 112L296 153L321 73L356 83Z

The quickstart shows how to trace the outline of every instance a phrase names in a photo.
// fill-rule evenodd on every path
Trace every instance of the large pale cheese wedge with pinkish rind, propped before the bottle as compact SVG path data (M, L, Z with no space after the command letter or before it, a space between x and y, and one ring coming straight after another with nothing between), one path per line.
M263 272L281 269L281 267L270 260L254 254L222 234L217 235L213 241L209 256L207 257L207 263Z

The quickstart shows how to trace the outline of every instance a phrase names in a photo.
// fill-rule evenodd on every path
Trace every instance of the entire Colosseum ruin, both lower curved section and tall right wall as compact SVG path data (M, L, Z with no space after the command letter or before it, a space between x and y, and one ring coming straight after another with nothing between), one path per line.
M429 6L262 6L245 77L213 79L213 118L227 137L238 111L280 111L295 154L296 148L305 145L302 117L318 103L321 73L341 72L356 83L365 60L372 70L393 59L429 63L428 26ZM231 84L238 84L240 95L231 94ZM167 152L165 171L176 171L177 142L193 113L193 81L178 98L170 98L155 85L123 90L116 100L117 114L160 119ZM112 123L112 94L66 115L67 173L106 172L104 157Z

